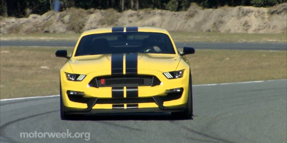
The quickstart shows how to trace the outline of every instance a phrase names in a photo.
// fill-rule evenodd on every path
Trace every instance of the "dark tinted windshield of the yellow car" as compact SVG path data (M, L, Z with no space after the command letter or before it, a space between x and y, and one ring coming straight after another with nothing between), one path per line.
M115 53L175 54L175 51L164 33L112 32L83 36L75 56Z

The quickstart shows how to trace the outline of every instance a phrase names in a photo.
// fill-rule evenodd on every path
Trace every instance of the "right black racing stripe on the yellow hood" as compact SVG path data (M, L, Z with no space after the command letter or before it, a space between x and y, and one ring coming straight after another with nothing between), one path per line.
M126 74L137 74L137 53L126 54Z

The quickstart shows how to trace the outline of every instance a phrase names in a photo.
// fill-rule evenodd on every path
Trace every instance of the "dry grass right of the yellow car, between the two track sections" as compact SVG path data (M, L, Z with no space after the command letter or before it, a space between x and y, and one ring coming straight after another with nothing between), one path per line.
M287 78L287 51L197 50L187 59L193 84Z

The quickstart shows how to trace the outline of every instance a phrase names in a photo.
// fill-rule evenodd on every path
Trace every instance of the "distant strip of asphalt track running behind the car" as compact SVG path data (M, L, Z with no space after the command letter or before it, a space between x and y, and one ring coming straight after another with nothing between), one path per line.
M0 41L2 46L59 46L74 47L75 41ZM287 43L199 43L176 42L177 48L195 49L241 49L241 50L287 50Z

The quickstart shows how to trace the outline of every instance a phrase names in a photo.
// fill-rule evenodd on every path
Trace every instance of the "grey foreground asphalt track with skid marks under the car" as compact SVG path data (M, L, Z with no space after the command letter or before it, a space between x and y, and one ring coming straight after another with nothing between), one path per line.
M59 96L1 100L0 142L284 143L287 80L193 86L193 120L168 114L60 120ZM20 132L90 132L83 138L20 138Z

